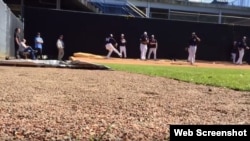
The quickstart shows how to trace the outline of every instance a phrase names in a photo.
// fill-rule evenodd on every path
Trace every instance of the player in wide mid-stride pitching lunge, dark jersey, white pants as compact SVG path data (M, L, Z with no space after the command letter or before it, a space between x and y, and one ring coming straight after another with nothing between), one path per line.
M106 50L108 50L108 54L106 56L106 58L110 58L111 54L113 53L113 51L118 54L120 57L122 57L122 55L119 53L119 51L116 49L117 47L117 42L113 37L113 34L110 34L109 37L106 38L106 44L105 44L105 48Z

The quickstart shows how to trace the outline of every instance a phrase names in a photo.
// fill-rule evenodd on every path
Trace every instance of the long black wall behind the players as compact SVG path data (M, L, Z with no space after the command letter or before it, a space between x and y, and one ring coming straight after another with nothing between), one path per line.
M64 35L65 58L75 52L106 55L105 37L110 33L116 40L124 33L129 58L140 58L139 38L144 31L154 34L159 43L158 58L187 59L185 47L192 32L201 38L197 59L229 61L233 40L242 36L250 38L250 28L244 26L171 21L163 19L134 18L117 15L82 13L25 7L24 33L28 44L34 45L34 37L41 32L44 53L51 59L57 56L56 41ZM246 52L245 59L249 54ZM113 57L118 57L116 54Z

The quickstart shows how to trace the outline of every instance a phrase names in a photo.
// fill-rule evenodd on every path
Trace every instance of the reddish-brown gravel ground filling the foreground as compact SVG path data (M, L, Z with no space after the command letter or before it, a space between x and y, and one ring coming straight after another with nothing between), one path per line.
M163 141L170 124L250 124L249 92L119 71L0 74L0 140Z

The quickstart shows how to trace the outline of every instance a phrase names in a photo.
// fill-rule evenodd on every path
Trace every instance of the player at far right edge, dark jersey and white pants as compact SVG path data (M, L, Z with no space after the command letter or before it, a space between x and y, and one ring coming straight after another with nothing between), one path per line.
M241 65L245 54L245 49L249 49L246 43L247 37L244 36L240 42L238 42L239 58L236 64Z

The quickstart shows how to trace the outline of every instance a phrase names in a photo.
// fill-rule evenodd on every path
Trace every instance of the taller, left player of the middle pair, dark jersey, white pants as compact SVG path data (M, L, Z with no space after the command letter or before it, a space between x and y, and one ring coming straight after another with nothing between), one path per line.
M140 51L141 51L141 60L146 60L146 53L148 50L148 34L147 32L144 32L143 35L141 35L140 38Z

